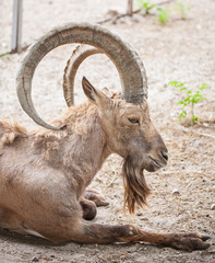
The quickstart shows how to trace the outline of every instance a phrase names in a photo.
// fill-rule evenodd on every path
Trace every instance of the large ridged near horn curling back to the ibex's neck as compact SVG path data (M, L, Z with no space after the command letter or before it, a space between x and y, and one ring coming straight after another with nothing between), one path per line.
M88 23L70 23L50 31L37 41L23 59L16 78L17 96L23 110L35 123L49 129L60 129L45 123L32 102L32 79L38 62L53 48L71 43L82 43L103 50L116 65L127 102L142 103L147 93L145 69L139 55L121 38L109 31Z

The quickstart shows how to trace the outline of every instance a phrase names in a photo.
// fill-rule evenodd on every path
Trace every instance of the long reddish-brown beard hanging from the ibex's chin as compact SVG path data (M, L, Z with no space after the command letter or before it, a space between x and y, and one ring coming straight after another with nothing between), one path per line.
M129 214L133 215L136 205L142 208L144 205L147 205L146 197L151 193L151 190L146 184L143 169L135 165L131 157L124 159L122 178L124 184L123 213L126 214L126 206L128 206Z

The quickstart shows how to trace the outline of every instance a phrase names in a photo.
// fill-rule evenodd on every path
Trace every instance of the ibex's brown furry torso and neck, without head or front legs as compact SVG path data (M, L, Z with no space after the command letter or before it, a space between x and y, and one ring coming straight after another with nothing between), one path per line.
M55 214L73 217L80 211L81 196L109 155L95 110L93 105L68 110L60 118L68 128L57 133L27 133L16 124L0 123L0 207L22 218L13 230L40 232L36 218L37 226L45 218L51 226ZM2 225L2 211L0 218ZM11 224L7 217L2 226Z

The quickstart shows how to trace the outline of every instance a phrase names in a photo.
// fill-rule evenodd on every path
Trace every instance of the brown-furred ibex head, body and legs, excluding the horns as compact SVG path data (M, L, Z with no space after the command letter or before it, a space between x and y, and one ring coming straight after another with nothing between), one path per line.
M207 237L196 233L148 233L133 226L85 220L96 216L95 205L104 205L84 193L110 153L124 158L124 201L133 213L150 192L143 170L166 165L167 149L150 119L146 101L135 105L111 99L86 81L83 89L88 102L52 122L62 130L27 132L0 122L0 227L57 243L146 241L187 250L207 248L203 242Z

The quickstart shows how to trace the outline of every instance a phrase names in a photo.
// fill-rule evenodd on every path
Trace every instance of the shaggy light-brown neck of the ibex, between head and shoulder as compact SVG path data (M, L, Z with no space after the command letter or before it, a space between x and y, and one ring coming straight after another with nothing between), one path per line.
M98 110L92 103L73 106L52 124L63 124L65 129L40 129L36 133L37 148L49 164L63 169L80 196L111 153Z

